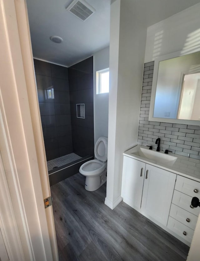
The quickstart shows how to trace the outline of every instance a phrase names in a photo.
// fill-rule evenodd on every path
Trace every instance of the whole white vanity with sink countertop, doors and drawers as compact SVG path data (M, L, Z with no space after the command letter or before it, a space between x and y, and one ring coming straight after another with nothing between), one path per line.
M200 161L137 145L123 153L123 201L190 246L200 208Z

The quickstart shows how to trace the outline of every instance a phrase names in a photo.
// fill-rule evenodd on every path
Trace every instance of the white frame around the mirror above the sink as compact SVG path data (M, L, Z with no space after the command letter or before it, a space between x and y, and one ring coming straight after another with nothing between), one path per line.
M189 54L189 53L187 53ZM159 62L168 60L171 58L184 56L186 54L183 54L182 51L166 54L163 56L159 56L154 61L154 69L153 69L153 82L152 82L152 92L151 92L151 101L150 101L150 108L149 108L149 121L156 121L156 122L167 122L167 123L178 123L178 124L189 124L189 125L198 125L200 126L200 121L194 121L194 120L180 120L180 119L169 119L169 118L155 118L153 117L153 110L154 110L154 103L155 103L155 97L156 97L156 86L157 86L157 79L158 79L158 67Z

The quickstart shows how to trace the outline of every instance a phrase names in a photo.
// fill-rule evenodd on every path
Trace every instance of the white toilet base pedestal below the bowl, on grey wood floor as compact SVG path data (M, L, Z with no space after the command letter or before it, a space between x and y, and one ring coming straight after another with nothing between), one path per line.
M99 176L90 177L87 176L85 179L85 189L87 191L95 191L106 182L107 168Z

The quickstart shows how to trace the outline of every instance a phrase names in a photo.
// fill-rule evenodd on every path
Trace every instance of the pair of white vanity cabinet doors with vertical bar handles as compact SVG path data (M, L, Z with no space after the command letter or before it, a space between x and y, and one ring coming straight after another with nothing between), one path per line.
M123 201L166 226L176 174L136 159L123 158Z

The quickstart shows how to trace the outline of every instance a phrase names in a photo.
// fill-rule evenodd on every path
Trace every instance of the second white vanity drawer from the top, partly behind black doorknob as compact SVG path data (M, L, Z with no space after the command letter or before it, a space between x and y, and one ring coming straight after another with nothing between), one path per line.
M173 198L172 198L172 203L177 205L178 207L183 208L184 210L189 211L190 213L198 216L200 212L200 208L191 208L191 201L192 197L185 195L181 193L180 191L174 190Z

